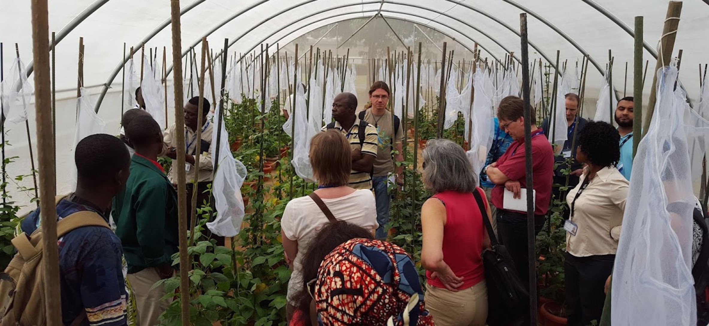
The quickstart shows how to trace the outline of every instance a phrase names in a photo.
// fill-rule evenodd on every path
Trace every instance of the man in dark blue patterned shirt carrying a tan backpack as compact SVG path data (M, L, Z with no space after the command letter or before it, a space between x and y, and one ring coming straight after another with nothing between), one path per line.
M128 179L130 156L121 140L112 135L91 135L74 152L77 191L57 204L57 220L89 210L108 223L113 196ZM23 232L40 226L40 210L22 221ZM62 324L127 325L121 240L106 227L79 227L60 237ZM73 325L73 324L72 324Z

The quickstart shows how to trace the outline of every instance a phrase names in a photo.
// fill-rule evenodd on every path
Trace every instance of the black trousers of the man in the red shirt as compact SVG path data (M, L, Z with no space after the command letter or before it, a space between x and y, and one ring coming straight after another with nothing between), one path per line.
M527 249L527 215L513 213L507 210L497 211L497 234L499 242L505 245L515 262L515 268L520 274L522 283L529 288L529 255ZM544 215L535 215L535 236L544 226Z

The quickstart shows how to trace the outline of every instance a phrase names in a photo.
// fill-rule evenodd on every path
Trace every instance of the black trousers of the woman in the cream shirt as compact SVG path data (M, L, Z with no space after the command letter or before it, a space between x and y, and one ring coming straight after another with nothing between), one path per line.
M569 326L587 326L601 322L605 293L603 287L613 271L615 254L576 257L567 253L564 261L566 305Z

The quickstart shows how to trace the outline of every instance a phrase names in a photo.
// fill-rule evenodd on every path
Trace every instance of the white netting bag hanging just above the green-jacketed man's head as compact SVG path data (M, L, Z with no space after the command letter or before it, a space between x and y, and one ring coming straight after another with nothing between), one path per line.
M150 113L153 119L160 125L160 129L167 128L165 125L165 93L160 82L160 66L157 62L150 64L147 57L143 62L143 83L140 84L140 92L145 101L145 111Z

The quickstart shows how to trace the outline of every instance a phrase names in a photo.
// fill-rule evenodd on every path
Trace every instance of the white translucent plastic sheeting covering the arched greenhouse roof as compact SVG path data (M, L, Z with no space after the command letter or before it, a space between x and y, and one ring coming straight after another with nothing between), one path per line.
M540 15L554 26L563 31L569 38L576 41L579 46L588 52L601 69L608 61L608 49L613 50L615 69L613 84L615 89L623 90L623 64L618 62L630 62L632 72L632 38L623 28L610 21L602 13L593 9L591 4L598 4L617 17L626 26L632 28L634 16L644 16L644 40L651 47L657 46L657 41L661 35L661 28L664 23L667 1L664 0L627 0L612 1L603 0L593 2L591 0L525 0L523 3L529 13L529 40L537 45L550 60L554 60L556 50L561 51L561 60L569 60L569 66L574 67L574 62L581 60L582 54L571 43L565 40L562 35L546 26L542 21L535 18L535 14ZM230 53L250 52L257 49L260 43L279 43L281 48L293 53L292 40L303 40L301 53L304 49L320 38L325 30L318 33L310 33L312 38L298 38L300 35L308 34L323 26L333 26L333 23L360 18L364 21L380 9L386 18L396 18L416 23L423 30L435 29L438 33L434 36L435 45L423 38L417 29L411 27L408 30L397 30L401 33L403 42L415 50L415 43L424 43L425 48L435 49L444 40L451 43L459 42L464 47L472 49L474 42L479 42L483 50L483 57L497 57L502 60L506 50L515 52L518 57L520 53L520 41L517 34L509 30L506 26L493 21L493 19L483 14L473 11L477 9L495 17L505 23L513 30L519 30L519 13L522 9L514 6L513 0L360 0L360 1L325 1L325 0L260 0L260 1L230 1L230 0L184 0L182 8L191 8L182 16L182 50L185 52L189 46L197 44L203 35L208 36L211 47L219 49L222 47L224 38L229 38L233 46ZM168 52L171 50L172 40L170 38L169 25L160 29L163 22L169 18L169 1L155 0L56 0L50 1L50 30L57 31L57 36L61 36L62 29L71 25L71 22L81 16L82 12L91 8L97 9L71 30L60 42L56 49L56 71L57 90L74 89L76 86L76 71L78 57L78 39L84 37L84 85L91 91L92 99L97 101L96 94L101 91L101 85L106 83L111 72L119 67L122 62L123 43L130 46L139 45L140 42L152 34L153 30L158 30L155 37L147 40L147 47L157 47L162 50L167 46ZM235 17L235 18L233 18ZM228 22L227 22L228 21ZM390 19L395 21L395 19ZM675 49L683 49L682 71L680 79L688 90L688 97L695 103L698 99L698 81L696 79L696 67L699 63L705 63L708 59L709 43L704 42L709 32L706 22L709 21L709 6L700 0L684 1L679 31L677 33ZM225 23L224 23L225 22ZM0 42L4 43L4 63L6 74L15 55L13 44L18 43L21 57L26 64L31 61L31 17L29 1L3 1L0 11ZM220 26L222 25L223 26ZM366 29L386 27L377 18ZM396 29L396 24L393 24ZM359 23L340 23L336 28L335 40L330 43L341 43L356 28ZM476 29L474 29L474 28ZM363 31L364 31L363 30ZM484 32L484 33L483 33ZM362 32L361 32L362 33ZM442 35L447 35L445 38ZM330 35L331 36L331 35ZM328 37L330 38L330 37ZM327 39L325 39L327 40ZM323 40L323 43L325 43ZM454 41L452 41L454 40ZM355 40L348 41L340 49L333 50L333 54L344 55L347 48L352 47L352 57L364 57L357 53L358 45ZM405 47L398 43L396 38L392 42L387 42L382 47L391 47L392 52L401 52ZM275 52L275 47L271 47L271 53ZM675 53L676 53L675 50ZM459 53L463 52L463 55ZM140 52L138 52L140 53ZM145 50L147 55L148 50ZM457 47L456 60L464 57L469 60L469 52L461 51ZM438 52L440 55L440 52ZM530 47L530 57L539 58L542 53ZM158 55L160 57L160 55ZM380 57L381 58L381 57ZM654 58L646 50L644 59L654 66ZM493 60L494 61L494 60ZM140 60L136 60L140 62ZM168 55L168 66L172 59ZM601 72L593 66L588 69L588 79L586 95L589 99L597 98L598 90L590 91L591 86L601 84ZM360 72L360 75L366 75ZM435 74L435 72L434 72ZM536 74L535 74L536 75ZM6 75L7 77L7 75ZM32 82L34 74L30 76ZM106 122L107 131L111 128L118 131L118 120L120 118L121 103L121 74L113 79L106 99L104 99L99 116ZM172 77L169 77L172 79ZM652 74L649 74L649 79ZM366 78L365 78L366 79ZM645 83L645 96L649 94L651 82ZM358 81L357 87L362 87L362 81ZM92 87L94 86L94 87ZM628 93L632 93L632 78L627 81ZM168 92L171 88L168 89ZM57 94L57 99L67 99L75 96L75 91L65 91ZM116 93L118 92L118 93ZM361 97L361 96L360 96ZM362 99L360 99L362 101ZM33 101L32 101L33 102ZM169 106L172 107L172 96L168 96ZM63 139L71 139L74 134L75 99L57 102L57 151L60 152L58 158L57 184L65 184L65 176L61 173L66 171L67 164L72 163L72 157L68 155L70 142L63 142ZM34 133L34 110L33 103L28 107L28 118L30 119L30 131ZM172 120L172 108L169 109L169 120ZM26 139L22 132L22 125L9 124L9 141L13 145L9 147L9 155L20 156L20 161L11 164L10 176L16 176L21 172L29 173L28 153ZM23 181L23 185L28 185ZM18 198L21 202L26 202Z

